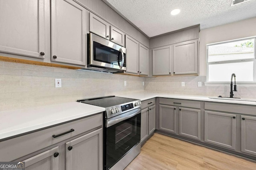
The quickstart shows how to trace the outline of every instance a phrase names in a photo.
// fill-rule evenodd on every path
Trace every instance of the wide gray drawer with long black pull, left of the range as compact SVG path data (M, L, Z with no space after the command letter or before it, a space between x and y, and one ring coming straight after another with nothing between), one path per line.
M98 114L70 123L58 125L56 127L46 128L20 137L4 140L0 142L0 160L12 161L93 128L101 127L103 124L102 116L103 114ZM69 131L70 129L74 129L74 131L56 138L52 137L54 134L61 134Z

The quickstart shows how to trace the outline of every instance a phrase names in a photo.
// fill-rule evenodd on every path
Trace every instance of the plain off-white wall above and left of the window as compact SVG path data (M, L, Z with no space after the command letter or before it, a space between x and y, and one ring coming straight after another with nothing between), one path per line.
M200 75L206 75L206 44L256 36L256 17L201 30Z

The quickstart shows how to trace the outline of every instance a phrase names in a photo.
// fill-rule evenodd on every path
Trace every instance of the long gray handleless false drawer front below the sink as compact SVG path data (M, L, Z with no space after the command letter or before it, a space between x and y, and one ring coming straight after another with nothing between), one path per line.
M223 112L230 112L230 113L256 115L256 107L248 106L248 105L246 106L246 105L237 105L237 104L232 105L232 104L205 102L204 109L212 110L212 111L223 111Z

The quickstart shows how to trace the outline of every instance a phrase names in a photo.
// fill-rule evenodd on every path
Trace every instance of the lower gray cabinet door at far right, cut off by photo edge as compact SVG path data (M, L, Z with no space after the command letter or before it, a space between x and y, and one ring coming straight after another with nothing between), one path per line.
M256 117L241 116L241 151L256 155Z

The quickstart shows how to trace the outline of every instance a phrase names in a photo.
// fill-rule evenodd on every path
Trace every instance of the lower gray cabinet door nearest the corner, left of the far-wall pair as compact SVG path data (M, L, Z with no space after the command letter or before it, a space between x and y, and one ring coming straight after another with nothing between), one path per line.
M176 107L159 105L159 129L176 134Z

